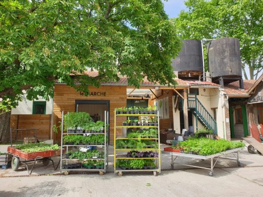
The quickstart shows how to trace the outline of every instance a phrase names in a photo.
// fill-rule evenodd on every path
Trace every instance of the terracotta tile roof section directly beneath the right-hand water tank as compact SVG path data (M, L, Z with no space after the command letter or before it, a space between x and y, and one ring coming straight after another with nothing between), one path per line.
M248 96L248 89L255 83L256 80L243 80L244 90L239 89L239 81L229 83L224 86L224 93L228 96Z

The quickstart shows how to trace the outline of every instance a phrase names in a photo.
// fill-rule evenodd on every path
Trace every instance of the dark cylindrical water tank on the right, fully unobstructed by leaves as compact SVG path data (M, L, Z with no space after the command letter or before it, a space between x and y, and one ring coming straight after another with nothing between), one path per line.
M209 72L212 78L241 77L239 40L221 38L207 44Z

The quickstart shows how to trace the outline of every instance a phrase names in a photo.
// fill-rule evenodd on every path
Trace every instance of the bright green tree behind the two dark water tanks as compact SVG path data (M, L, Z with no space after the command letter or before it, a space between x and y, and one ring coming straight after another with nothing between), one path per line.
M249 68L250 79L263 69L262 0L189 0L188 12L174 19L181 39L234 37L240 41L242 70Z

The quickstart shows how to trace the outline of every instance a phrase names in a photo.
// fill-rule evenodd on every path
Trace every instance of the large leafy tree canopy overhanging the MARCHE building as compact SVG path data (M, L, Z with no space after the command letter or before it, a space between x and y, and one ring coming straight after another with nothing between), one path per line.
M13 106L23 90L29 100L52 97L54 80L85 95L88 85L119 74L136 87L145 76L174 85L171 58L179 50L161 0L0 2L0 98ZM88 67L99 75L84 75Z

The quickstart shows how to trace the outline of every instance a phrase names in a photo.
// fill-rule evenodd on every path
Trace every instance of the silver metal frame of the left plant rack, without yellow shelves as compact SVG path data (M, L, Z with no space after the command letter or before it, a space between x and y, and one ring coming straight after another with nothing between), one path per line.
M83 146L102 146L104 147L104 159L103 158L89 158L89 159L83 159L83 160L104 160L104 168L103 169L88 169L88 168L75 168L75 169L65 169L63 168L63 161L66 161L66 164L68 164L68 161L79 161L81 162L82 160L79 159L67 159L63 157L63 152L61 151L60 154L60 172L64 172L65 175L69 174L69 171L99 171L100 175L103 175L106 173L106 169L108 167L108 135L109 132L107 131L107 124L109 122L109 112L105 111L105 120L104 120L104 133L67 133L63 132L63 125L64 122L64 111L62 111L62 132L61 132L61 146L66 147L66 152L68 152L69 147L83 147ZM104 137L104 144L95 144L95 145L66 145L63 144L63 135L83 135L83 134L92 134L92 135L105 135ZM77 162L77 163L79 163Z

